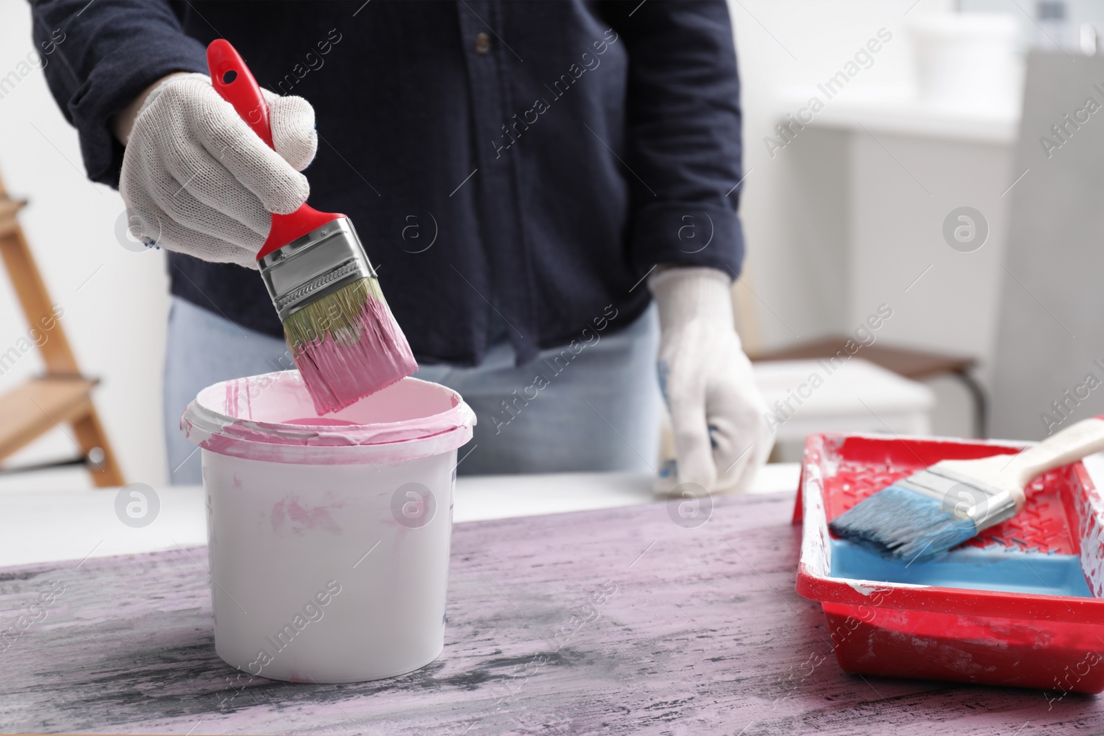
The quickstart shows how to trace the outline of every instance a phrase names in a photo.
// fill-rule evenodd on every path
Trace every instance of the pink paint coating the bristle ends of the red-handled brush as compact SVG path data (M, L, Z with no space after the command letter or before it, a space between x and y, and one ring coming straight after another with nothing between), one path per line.
M369 297L340 340L295 345L291 358L319 415L342 409L417 371L417 362L386 303Z

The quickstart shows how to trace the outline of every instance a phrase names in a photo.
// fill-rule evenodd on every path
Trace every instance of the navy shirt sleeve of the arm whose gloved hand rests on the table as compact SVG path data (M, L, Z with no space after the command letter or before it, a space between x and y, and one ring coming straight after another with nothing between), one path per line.
M628 49L629 256L735 277L744 241L740 79L724 1L639 0L604 8Z

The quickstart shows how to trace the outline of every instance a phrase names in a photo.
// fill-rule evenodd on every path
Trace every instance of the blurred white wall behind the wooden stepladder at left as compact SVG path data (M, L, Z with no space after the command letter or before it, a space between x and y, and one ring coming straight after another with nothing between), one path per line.
M33 50L28 4L0 2L0 76L25 62ZM65 310L61 323L78 364L103 381L94 394L96 406L127 481L163 482L161 369L169 305L164 254L134 253L116 241L123 200L85 178L76 132L39 70L0 99L0 175L13 198L31 201L20 222L51 298ZM25 334L10 281L0 276L0 352ZM42 370L36 351L28 352L0 376L0 392ZM12 463L76 452L65 435L53 431ZM65 477L72 478L70 488L91 484L81 470ZM12 476L0 487L34 488L57 478Z

